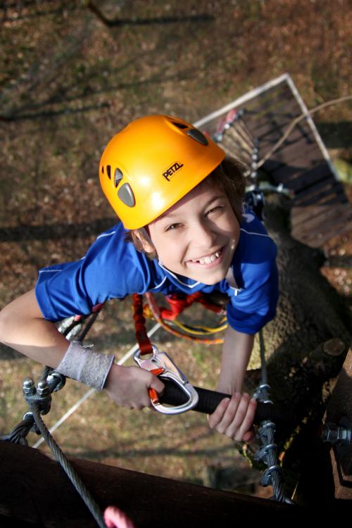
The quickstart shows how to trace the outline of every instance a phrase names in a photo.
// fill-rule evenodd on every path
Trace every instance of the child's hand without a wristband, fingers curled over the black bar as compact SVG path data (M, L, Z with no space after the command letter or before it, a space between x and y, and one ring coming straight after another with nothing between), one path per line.
M256 408L256 400L249 394L236 392L231 399L220 401L213 414L208 416L210 429L234 440L249 442L254 438L254 432L250 429Z

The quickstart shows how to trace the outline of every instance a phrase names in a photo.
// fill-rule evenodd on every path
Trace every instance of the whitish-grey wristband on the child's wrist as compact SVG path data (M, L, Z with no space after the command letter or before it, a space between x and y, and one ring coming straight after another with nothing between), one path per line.
M73 341L55 369L64 376L102 391L115 356L92 351Z

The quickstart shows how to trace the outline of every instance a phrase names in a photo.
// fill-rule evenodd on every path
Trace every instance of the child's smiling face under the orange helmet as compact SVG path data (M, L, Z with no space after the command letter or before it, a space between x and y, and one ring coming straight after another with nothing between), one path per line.
M148 227L168 270L203 284L226 277L240 231L224 191L202 182Z

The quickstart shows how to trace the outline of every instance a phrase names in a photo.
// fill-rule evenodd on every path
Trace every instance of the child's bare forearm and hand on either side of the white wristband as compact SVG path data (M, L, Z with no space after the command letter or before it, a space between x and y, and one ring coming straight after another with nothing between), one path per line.
M43 318L34 289L12 301L0 312L0 341L43 365L56 368L63 360L70 341L53 322ZM111 365L104 389L120 406L151 406L148 388L163 391L163 383L139 367Z

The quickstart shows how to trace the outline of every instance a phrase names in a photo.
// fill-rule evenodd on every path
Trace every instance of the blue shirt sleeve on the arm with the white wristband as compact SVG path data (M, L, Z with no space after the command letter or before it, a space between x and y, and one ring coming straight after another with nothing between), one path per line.
M35 291L44 318L56 322L91 313L108 299L142 293L150 283L146 256L125 242L118 225L101 234L81 260L40 270Z

